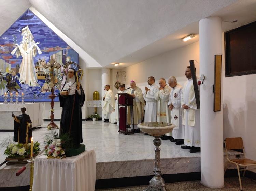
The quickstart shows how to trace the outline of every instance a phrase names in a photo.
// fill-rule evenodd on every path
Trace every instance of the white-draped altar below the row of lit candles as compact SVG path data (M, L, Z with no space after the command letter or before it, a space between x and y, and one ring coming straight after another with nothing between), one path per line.
M0 103L0 129L12 130L13 129L13 117L21 114L20 108L26 107L26 114L29 115L33 127L37 127L43 124L43 111L44 106L42 103L13 103L4 104Z

